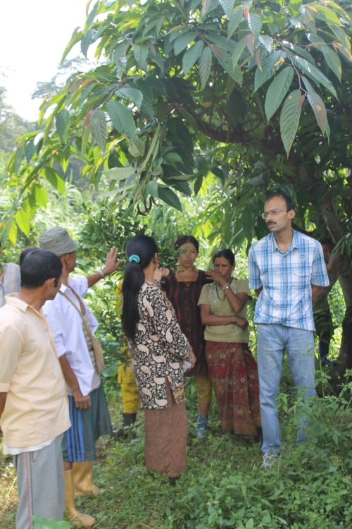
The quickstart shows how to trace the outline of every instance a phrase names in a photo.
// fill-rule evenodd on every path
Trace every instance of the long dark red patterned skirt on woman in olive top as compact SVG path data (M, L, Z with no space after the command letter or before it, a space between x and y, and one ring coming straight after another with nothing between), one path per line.
M248 343L206 341L206 359L222 431L256 436L260 427L258 369Z

